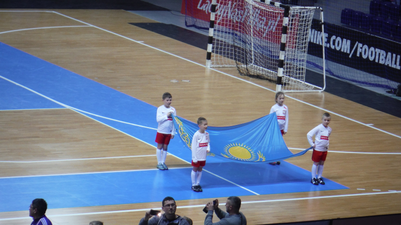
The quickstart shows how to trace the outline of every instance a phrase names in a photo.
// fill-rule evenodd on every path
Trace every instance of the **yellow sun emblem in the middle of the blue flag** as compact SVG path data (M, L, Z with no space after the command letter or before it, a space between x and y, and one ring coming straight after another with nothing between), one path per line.
M244 161L254 161L256 159L256 153L251 149L250 146L239 143L230 143L224 147L223 156L233 159L239 159Z

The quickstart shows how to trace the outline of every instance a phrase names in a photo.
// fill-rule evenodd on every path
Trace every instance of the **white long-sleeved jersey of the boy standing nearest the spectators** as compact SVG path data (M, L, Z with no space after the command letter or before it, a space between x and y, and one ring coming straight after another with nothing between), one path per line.
M210 150L209 133L201 133L197 130L192 137L191 143L192 161L205 161L207 150Z

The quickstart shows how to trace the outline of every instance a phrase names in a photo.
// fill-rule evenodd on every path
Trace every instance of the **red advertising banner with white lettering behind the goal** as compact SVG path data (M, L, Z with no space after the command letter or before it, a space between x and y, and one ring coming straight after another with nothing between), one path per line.
M243 34L280 43L284 9L258 1L252 4L251 7L251 2L246 0L218 0L215 25L228 28L227 32L240 30ZM182 0L181 13L206 21L204 24L209 27L211 7L211 0ZM193 22L198 24L196 20Z

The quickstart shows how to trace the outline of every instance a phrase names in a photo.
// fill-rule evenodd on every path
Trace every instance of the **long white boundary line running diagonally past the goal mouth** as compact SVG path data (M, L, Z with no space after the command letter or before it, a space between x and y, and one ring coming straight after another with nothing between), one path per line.
M12 12L12 11L11 11L11 12ZM161 49L159 49L159 48L156 48L156 47L150 46L150 45L148 45L148 44L145 44L145 43L142 43L142 42L140 42L140 41L137 41L137 40L131 39L131 38L129 38L129 37L123 36L123 35L121 35L121 34L118 34L118 33L112 32L112 31L109 31L109 30L107 30L107 29L100 28L100 27L98 27L98 26L95 26L95 25L92 25L92 24L90 24L90 23L87 23L87 22L81 21L81 20L79 20L79 19L76 19L76 18L70 17L70 16L68 16L68 15L64 15L64 14L62 14L62 13L60 13L60 12L57 12L57 11L51 11L51 12L53 12L53 13L56 13L56 14L59 14L59 15L62 15L62 16L65 16L65 17L67 17L67 18L70 18L70 19L73 19L73 20L75 20L75 21L82 22L82 23L84 23L84 24L87 24L87 25L89 25L89 26L92 26L92 27L95 27L95 28L101 29L101 30L103 30L103 31L106 31L106 32L112 33L112 34L114 34L114 35L117 35L117 36L123 37L123 38L125 38L125 39L131 40L131 41L134 41L134 42L136 42L136 43L139 43L139 44L142 44L142 45L148 46L148 47L150 47L150 48L153 48L153 49L155 49L155 50L158 50L158 51L164 52L164 53L166 53L166 54L169 54L169 55L172 55L172 56L175 56L175 57L181 58L181 59L183 59L183 60L185 60L185 61L192 62L192 63L194 63L194 64L197 64L197 65L200 65L200 66L202 66L202 67L206 67L204 64L200 64L200 63L197 63L197 62L191 61L191 60L189 60L189 59L187 59L187 58L184 58L184 57L178 56L178 55L176 55L176 54L173 54L173 53L170 53L170 52L167 52L167 51L161 50ZM251 82L251 81L248 81L248 80L245 80L245 79L242 79L242 78L240 78L240 77L236 77L236 76L234 76L234 75L231 75L231 74L228 74L228 73L225 73L225 72L219 71L219 70L217 70L217 69L214 69L214 68L209 68L209 69L211 69L211 70L214 70L214 71L217 71L217 72L220 72L220 73L222 73L222 74L225 74L225 75L228 75L228 76L231 76L231 77L233 77L233 78L236 78L236 79L242 80L242 81L244 81L244 82L247 82L247 83L250 83L250 84L256 85L256 86L258 86L258 87L261 87L261 88L263 88L263 89L270 90L270 91L272 91L272 92L276 92L275 90L272 90L272 89L269 89L269 88L267 88L267 87L264 87L264 86L262 86L262 85L259 85L259 84L256 84L256 83L253 83L253 82ZM310 105L310 106L312 106L312 107L315 107L315 108L318 108L318 109L321 109L321 110L325 110L325 111L327 111L327 112L330 112L330 113L332 113L332 114L338 115L338 116L340 116L340 117L343 117L343 118L345 118L345 119L349 119L349 120L351 120L351 121L354 121L354 122L356 122L356 123L359 123L359 124L362 124L362 125L368 126L368 127L370 127L370 128L373 128L373 129L379 130L379 131L381 131L381 132L384 132L384 133L390 134L390 135L392 135L392 136L395 136L395 137L401 138L401 136L399 136L399 135L396 135L396 134L390 133L390 132L388 132L388 131L385 131L385 130L382 130L382 129L376 128L376 127L374 127L374 126L369 126L369 125L367 125L367 124L365 124L365 123L363 123L363 122L360 122L360 121L357 121L357 120L355 120L355 119L349 118L349 117L347 117L347 116L344 116L344 115L338 114L338 113L336 113L336 112L333 112L333 111L330 111L330 110L324 109L324 108L322 108L322 107L319 107L319 106L313 105L313 104L311 104L311 103L308 103L308 102L306 102L306 101L303 101L303 100L297 99L297 98L295 98L295 97L291 97L291 96L289 96L289 95L287 95L287 97L289 97L289 98L291 98L291 99L294 99L294 100L297 100L297 101L299 101L299 102L302 102L302 103L304 103L304 104Z

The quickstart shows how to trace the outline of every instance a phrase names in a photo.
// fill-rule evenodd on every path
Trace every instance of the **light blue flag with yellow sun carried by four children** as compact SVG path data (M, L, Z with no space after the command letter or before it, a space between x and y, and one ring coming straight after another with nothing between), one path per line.
M175 129L191 149L192 137L199 129L196 123L173 116ZM293 154L284 142L276 113L253 121L225 127L208 126L211 153L239 162L272 162L303 155L312 147Z

